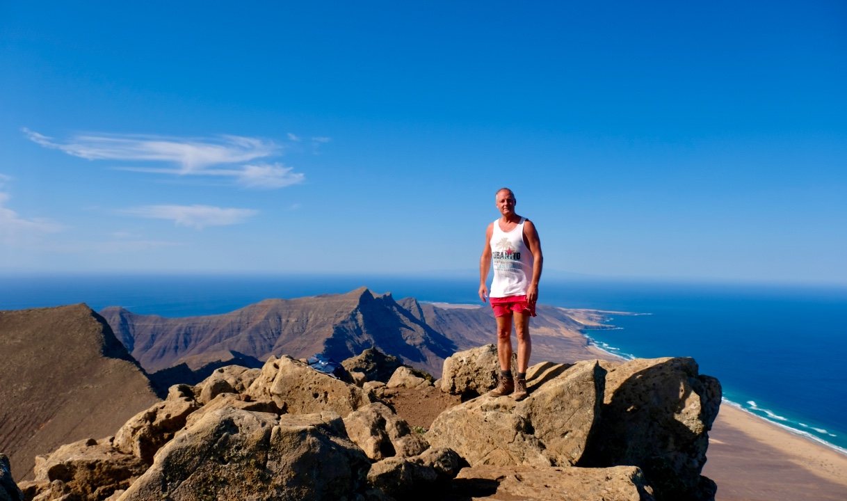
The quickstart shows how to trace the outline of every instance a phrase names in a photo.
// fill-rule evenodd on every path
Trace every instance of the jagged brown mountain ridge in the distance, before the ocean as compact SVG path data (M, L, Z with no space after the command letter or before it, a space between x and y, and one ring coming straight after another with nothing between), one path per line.
M587 341L580 331L586 326L606 327L601 313L590 311L539 305L539 316L532 320L538 355L555 353L561 359L564 350L582 356ZM374 294L368 287L344 294L264 299L220 315L165 318L136 315L120 307L102 309L101 314L151 374L192 359L211 362L213 353L236 352L257 360L271 354L305 358L324 353L340 360L372 347L440 374L441 364L452 353L495 340L489 308L452 309L415 298L395 300L390 292ZM596 349L595 354L609 356Z

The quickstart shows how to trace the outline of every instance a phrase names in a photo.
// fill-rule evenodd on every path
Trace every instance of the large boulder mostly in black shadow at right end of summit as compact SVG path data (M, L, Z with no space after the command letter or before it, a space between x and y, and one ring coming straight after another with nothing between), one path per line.
M700 471L721 386L689 358L604 363L606 394L586 465L638 465L658 499L711 499Z

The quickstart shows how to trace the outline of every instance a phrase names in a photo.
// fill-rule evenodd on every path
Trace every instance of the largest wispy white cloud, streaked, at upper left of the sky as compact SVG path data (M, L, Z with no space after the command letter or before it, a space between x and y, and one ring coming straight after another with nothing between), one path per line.
M302 182L305 175L283 164L251 163L221 168L219 165L241 164L277 153L274 142L255 137L220 136L218 139L183 139L141 135L74 136L58 142L52 137L24 129L32 142L45 148L58 149L69 155L91 160L125 160L168 162L175 167L119 167L119 170L168 175L217 175L234 179L249 188L281 188ZM300 138L289 134L292 141Z

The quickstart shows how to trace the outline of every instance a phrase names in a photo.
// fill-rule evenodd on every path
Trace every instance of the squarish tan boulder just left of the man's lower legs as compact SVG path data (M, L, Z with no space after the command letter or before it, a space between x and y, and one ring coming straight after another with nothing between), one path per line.
M518 353L512 353L512 367L517 367L517 364ZM499 375L497 347L486 344L453 353L445 359L440 388L453 395L482 395L497 386Z

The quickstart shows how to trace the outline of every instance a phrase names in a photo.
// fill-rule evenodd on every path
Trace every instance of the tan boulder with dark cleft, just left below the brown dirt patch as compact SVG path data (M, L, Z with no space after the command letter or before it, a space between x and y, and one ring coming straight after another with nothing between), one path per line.
M423 436L379 402L348 414L344 426L347 436L374 461L418 455L429 447Z

